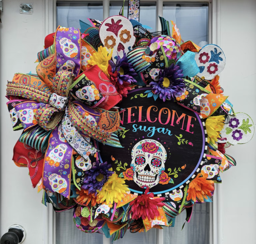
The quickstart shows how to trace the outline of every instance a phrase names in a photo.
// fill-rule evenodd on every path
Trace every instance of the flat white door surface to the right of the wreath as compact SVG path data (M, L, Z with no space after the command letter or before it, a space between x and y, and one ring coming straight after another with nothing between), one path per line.
M256 1L221 0L221 48L226 67L221 85L236 112L256 123ZM222 174L224 244L255 243L256 136L247 144L226 150L237 166Z

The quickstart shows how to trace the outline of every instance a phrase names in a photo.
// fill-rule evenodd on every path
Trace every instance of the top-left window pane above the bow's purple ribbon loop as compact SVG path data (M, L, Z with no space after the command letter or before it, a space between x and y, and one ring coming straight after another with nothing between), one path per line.
M87 18L103 20L102 2L57 2L57 27L80 29L79 20L92 25Z

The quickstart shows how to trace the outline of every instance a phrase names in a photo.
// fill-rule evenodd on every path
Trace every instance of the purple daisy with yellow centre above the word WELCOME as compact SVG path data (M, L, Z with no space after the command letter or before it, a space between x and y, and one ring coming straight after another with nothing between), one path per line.
M178 65L171 64L168 68L159 71L159 80L150 82L153 87L152 92L159 94L160 99L165 102L166 97L169 100L174 100L174 95L181 95L184 91L185 84L183 83L182 70Z

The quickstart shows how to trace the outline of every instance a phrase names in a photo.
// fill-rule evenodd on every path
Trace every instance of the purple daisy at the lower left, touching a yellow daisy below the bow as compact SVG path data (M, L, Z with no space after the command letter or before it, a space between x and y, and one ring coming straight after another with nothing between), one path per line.
M90 170L85 171L84 183L81 187L84 190L88 190L89 193L95 193L97 195L97 190L100 191L109 176L114 173L113 171L109 171L111 167L111 164L108 164L108 162L100 163L97 160Z

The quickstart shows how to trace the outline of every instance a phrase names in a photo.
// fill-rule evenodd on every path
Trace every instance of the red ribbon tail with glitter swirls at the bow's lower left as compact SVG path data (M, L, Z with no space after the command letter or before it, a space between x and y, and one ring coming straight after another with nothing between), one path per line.
M38 161L32 162L33 159L37 159ZM18 167L28 167L30 179L33 187L35 188L39 180L42 178L44 154L29 147L28 145L24 145L20 141L17 141L13 148L12 160Z

